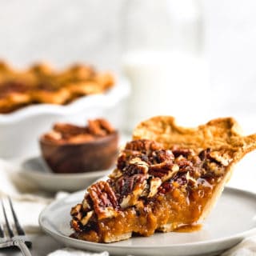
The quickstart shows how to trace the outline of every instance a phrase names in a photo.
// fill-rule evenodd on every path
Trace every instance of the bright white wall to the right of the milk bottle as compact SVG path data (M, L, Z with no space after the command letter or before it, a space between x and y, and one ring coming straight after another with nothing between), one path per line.
M222 107L256 111L256 2L205 2L210 81Z

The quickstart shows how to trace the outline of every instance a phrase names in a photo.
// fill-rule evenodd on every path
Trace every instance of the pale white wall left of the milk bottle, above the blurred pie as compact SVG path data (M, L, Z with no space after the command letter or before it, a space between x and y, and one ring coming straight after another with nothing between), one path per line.
M89 62L117 66L121 0L3 0L0 58L15 65L46 60L57 66Z

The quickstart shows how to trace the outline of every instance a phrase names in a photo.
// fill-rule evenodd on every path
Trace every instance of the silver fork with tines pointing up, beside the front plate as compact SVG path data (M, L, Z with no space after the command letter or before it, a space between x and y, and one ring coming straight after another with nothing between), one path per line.
M15 226L17 235L14 235L14 230L10 226L10 219L7 218L6 207L4 206L3 200L1 198L2 213L3 213L4 221L6 225L4 228L4 226L2 226L0 223L0 248L18 246L18 248L22 252L22 255L31 256L28 246L31 246L32 243L26 237L25 231L22 229L22 226L18 222L18 218L17 218L17 215L15 214L14 206L10 200L10 197L8 197L8 201L10 204L10 211L14 219L14 226Z

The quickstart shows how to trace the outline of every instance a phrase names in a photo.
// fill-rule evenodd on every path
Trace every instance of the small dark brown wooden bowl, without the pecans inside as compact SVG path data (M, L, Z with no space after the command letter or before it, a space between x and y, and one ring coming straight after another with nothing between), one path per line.
M40 138L42 157L55 173L106 170L118 154L118 132L91 142L58 144Z

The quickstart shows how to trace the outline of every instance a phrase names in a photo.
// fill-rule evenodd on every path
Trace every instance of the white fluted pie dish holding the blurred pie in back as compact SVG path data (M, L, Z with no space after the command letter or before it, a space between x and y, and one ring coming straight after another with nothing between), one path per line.
M122 78L105 94L84 96L65 106L38 104L0 114L0 158L26 158L38 153L39 136L54 122L84 124L86 119L113 109L129 92L129 83Z

